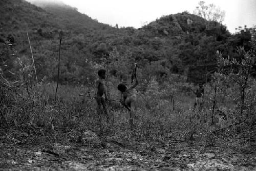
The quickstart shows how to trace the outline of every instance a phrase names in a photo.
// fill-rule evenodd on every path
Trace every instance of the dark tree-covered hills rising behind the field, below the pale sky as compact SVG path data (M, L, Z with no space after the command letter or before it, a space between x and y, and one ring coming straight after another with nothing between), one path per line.
M0 41L10 40L17 57L30 62L28 30L38 78L56 80L62 30L62 83L92 81L95 64L109 60L113 51L143 69L159 67L152 73L157 77L176 73L191 82L207 81L217 65L217 50L235 56L237 46L251 48L252 29L231 35L220 23L187 12L163 16L140 29L111 27L69 6L41 9L21 0L1 1L0 12Z

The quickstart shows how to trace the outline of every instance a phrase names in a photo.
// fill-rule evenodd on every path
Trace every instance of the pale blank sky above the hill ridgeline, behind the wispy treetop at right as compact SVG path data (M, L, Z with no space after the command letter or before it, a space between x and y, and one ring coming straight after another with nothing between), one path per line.
M48 0L49 1L49 0ZM199 0L61 0L99 22L119 27L140 28L162 15L193 13ZM224 25L230 32L238 26L256 25L256 0L205 0L226 12Z

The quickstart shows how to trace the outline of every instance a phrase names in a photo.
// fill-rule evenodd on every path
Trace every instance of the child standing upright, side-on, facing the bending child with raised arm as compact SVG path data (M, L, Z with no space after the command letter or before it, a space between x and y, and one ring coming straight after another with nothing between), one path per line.
M100 110L101 110L101 105L103 107L103 112L104 114L108 116L108 111L106 109L106 103L105 101L108 100L108 97L106 96L106 90L105 90L105 81L104 79L106 78L106 70L100 69L98 71L98 79L95 81L95 96L96 96L96 101L97 101L97 114L100 116ZM103 94L105 94L105 99L103 99Z

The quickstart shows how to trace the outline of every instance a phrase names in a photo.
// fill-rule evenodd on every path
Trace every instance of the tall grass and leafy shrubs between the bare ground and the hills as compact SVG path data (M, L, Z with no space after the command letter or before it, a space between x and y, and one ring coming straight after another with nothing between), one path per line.
M120 104L109 103L112 121L107 123L104 117L96 116L94 99L78 96L81 92L92 93L90 86L61 86L58 99L54 101L55 85L47 83L46 77L37 83L33 65L19 58L9 67L6 61L13 55L15 50L6 42L0 65L2 128L22 129L53 137L61 130L83 132L89 129L105 136L114 133L113 128L126 129L123 126L127 124L129 114ZM165 136L170 131L179 130L189 142L201 133L208 145L214 145L214 137L222 133L249 131L250 137L255 136L250 134L250 130L255 129L256 119L254 55L254 50L246 51L242 47L238 48L237 55L227 58L218 52L218 72L204 86L203 106L196 108L193 107L194 96L191 94L191 89L196 87L187 83L186 77L166 74L166 68L158 62L149 65L146 71L138 69L138 77L143 79L140 79L137 88L137 119L133 129L144 138ZM129 60L130 56L118 57L118 51L113 51L108 60L94 65L95 72L104 67L119 71L116 73L118 76L129 75L130 66L125 64L125 59ZM10 71L13 68L15 73ZM8 73L14 81L5 78ZM106 85L111 98L117 99L116 87L120 80L114 73L108 76ZM130 78L125 79L130 81Z

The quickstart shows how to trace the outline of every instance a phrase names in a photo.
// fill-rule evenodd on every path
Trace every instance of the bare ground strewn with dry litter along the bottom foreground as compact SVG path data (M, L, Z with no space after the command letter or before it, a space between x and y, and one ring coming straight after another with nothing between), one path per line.
M0 129L0 170L256 170L256 141L244 133L219 136L213 146L201 135L186 142L178 130L147 138L138 133L47 136Z

